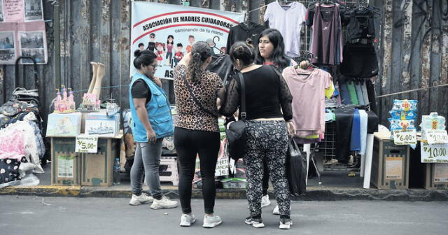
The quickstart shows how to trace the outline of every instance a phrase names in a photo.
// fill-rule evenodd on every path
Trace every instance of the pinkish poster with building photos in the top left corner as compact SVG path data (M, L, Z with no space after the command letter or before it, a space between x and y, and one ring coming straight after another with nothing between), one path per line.
M20 56L37 64L48 60L41 0L0 0L0 64L15 64ZM22 59L21 64L32 64Z

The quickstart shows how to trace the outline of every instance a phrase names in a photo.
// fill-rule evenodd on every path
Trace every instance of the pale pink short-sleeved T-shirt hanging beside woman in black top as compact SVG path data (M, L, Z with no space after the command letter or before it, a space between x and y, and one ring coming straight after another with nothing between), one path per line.
M331 75L322 69L283 70L283 77L293 94L293 120L297 136L325 132L325 89L331 85Z

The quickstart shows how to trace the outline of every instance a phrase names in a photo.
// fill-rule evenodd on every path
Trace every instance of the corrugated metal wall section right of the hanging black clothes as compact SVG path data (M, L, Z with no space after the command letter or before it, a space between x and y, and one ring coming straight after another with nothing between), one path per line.
M378 21L379 79L377 95L447 84L448 1L374 0ZM384 20L383 20L384 19ZM448 87L437 87L377 99L381 123L388 126L393 99L419 100L421 115L437 111L448 117Z

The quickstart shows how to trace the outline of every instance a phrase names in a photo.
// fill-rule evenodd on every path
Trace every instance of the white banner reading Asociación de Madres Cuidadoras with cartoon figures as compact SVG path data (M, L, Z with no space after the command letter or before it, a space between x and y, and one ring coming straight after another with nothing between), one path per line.
M166 79L197 41L209 43L216 54L225 53L230 28L243 20L241 13L132 1L130 76L136 71L135 50L153 51L158 56L155 76Z

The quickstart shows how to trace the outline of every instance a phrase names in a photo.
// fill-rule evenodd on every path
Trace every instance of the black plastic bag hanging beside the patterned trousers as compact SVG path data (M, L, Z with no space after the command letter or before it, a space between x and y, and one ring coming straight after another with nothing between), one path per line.
M286 156L286 177L291 195L300 196L307 190L307 158L303 157L293 139L289 141Z

